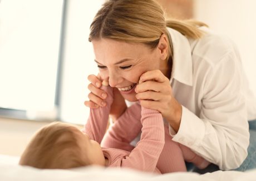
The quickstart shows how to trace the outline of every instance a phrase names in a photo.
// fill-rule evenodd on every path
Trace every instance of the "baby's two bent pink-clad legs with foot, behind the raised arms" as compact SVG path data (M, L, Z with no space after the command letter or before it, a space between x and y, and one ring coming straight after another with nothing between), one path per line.
M104 81L102 84L108 85ZM118 120L115 121L114 125L107 130L101 146L131 152L135 147L130 143L143 130L140 122L141 109L144 108L141 107L139 101L128 107ZM163 118L161 120L163 121ZM164 122L164 130L165 144L156 164L157 169L161 173L186 172L185 161L193 163L199 169L204 169L210 164L204 158L191 151L190 148L174 142L169 134L169 124L167 122Z

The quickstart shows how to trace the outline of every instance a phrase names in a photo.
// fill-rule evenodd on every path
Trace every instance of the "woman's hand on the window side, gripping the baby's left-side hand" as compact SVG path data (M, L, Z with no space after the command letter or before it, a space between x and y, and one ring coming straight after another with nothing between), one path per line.
M106 97L107 93L104 90L101 90L101 85L108 86L109 82L107 80L102 80L100 74L96 75L89 75L88 80L91 82L88 85L88 89L91 91L88 94L89 101L85 101L85 106L90 108L98 108L99 106L104 107L106 106ZM111 117L116 120L119 118L122 113L126 110L127 106L124 100L124 97L120 94L119 90L114 88L114 101L111 105L110 115Z

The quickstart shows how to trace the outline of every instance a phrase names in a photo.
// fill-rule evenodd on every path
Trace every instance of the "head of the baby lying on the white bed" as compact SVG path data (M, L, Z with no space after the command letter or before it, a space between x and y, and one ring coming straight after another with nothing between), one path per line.
M100 144L78 128L54 122L41 128L24 150L19 164L36 168L75 168L105 165Z

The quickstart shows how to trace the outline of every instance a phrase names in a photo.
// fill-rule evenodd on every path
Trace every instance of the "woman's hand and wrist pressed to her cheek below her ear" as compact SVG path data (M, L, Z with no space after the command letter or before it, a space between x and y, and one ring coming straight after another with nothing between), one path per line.
M170 80L160 70L142 74L135 92L141 106L161 112L171 127L179 131L182 107L173 97Z

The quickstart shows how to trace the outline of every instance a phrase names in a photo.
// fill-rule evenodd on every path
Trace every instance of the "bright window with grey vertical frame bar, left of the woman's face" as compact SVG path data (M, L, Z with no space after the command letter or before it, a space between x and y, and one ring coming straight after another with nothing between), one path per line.
M103 2L0 2L0 113L85 123L87 75L97 73L87 37Z

